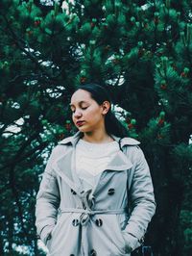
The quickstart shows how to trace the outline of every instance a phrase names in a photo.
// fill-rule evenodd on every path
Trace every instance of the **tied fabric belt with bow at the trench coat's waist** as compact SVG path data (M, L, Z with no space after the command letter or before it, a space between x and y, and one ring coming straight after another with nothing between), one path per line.
M103 209L103 210L92 210L94 203L95 203L95 197L91 193L92 190L89 190L87 192L82 192L80 197L83 202L83 208L64 208L60 209L60 214L62 213L80 213L80 222L82 225L85 225L91 216L94 215L102 215L102 214L108 214L108 215L120 215L126 212L126 208L119 208L119 209Z

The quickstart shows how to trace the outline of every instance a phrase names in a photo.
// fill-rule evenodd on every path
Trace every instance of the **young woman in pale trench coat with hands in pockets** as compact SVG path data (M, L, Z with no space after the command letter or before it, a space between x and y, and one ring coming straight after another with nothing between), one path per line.
M36 197L36 228L49 256L121 256L138 247L156 203L138 141L88 84L71 97L79 132L56 146Z

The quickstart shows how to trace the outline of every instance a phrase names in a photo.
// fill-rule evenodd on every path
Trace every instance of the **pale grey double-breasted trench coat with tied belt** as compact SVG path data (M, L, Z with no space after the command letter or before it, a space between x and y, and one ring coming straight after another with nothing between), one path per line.
M60 141L36 196L36 230L49 256L123 256L142 243L156 202L138 141L119 138L120 151L98 184L84 191L75 171L81 133Z

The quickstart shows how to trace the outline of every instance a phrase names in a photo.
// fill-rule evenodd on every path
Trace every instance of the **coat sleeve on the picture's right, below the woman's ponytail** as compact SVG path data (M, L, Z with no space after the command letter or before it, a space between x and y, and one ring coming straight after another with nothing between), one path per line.
M134 147L136 157L132 161L128 196L131 202L131 213L124 230L126 241L131 250L138 247L142 241L147 226L156 211L154 188L149 166L139 147Z

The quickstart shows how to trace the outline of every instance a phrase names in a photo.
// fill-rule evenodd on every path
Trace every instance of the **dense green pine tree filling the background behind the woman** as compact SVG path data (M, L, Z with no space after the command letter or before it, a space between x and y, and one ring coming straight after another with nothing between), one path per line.
M71 92L107 87L154 181L155 255L191 255L192 17L183 1L0 1L0 255L42 255L38 182L73 134Z

